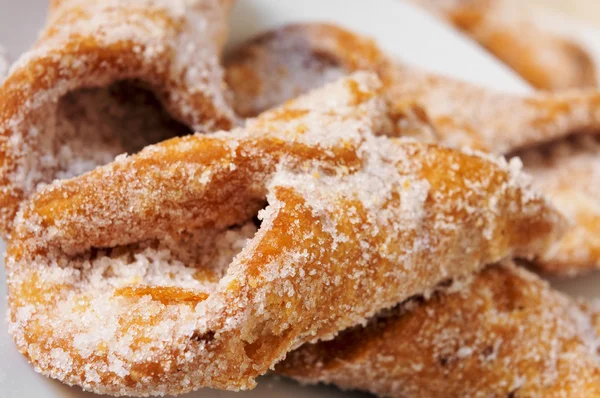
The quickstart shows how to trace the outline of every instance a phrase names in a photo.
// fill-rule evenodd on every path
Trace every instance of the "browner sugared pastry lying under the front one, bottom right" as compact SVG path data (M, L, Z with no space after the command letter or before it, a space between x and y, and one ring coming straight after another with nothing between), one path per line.
M386 397L598 397L597 346L576 304L525 270L494 266L303 346L276 369Z

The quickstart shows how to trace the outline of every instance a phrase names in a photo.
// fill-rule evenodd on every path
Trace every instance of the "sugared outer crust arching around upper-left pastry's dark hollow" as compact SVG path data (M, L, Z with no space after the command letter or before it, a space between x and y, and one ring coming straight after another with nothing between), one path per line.
M220 0L52 2L40 39L0 86L0 232L10 231L21 200L63 171L51 160L70 144L52 129L68 93L135 80L193 129L230 127L218 55L230 7Z

